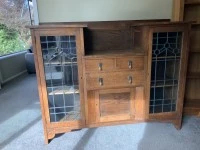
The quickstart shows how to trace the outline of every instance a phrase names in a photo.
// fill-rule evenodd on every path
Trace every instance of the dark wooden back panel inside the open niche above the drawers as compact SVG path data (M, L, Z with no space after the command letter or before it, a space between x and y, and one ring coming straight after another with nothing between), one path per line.
M85 30L85 49L87 51L121 50L131 48L130 29Z

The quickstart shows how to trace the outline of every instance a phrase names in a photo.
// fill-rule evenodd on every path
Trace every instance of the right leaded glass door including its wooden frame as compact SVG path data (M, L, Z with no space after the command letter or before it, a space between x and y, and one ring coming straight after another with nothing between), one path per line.
M160 114L180 118L188 53L185 28L158 27L151 30L150 36L150 118Z

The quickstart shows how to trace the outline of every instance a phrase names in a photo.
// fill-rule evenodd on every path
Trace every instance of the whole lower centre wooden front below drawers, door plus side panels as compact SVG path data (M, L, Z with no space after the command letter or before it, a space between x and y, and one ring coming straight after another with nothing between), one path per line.
M86 124L89 126L143 120L146 112L144 87L88 91L86 110Z

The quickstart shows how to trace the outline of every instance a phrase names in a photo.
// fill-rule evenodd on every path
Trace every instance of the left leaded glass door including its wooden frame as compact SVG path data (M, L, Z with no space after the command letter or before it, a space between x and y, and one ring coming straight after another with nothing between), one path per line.
M74 30L37 32L45 116L49 123L84 125L80 35Z

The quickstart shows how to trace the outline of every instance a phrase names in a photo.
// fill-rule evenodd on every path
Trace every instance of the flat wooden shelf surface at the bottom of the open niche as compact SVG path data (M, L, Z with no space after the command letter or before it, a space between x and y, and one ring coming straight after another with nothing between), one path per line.
M146 53L142 48L124 49L124 50L98 50L98 51L90 50L89 53L85 55L85 57L121 56L121 55L144 56L146 55Z

